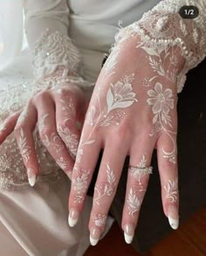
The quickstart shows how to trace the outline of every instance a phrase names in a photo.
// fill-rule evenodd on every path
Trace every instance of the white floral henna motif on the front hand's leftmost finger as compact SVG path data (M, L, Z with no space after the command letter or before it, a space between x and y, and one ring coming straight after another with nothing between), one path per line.
M74 203L81 204L84 201L85 193L88 188L88 179L90 170L77 170L78 176L72 180L73 188L77 192L75 195Z

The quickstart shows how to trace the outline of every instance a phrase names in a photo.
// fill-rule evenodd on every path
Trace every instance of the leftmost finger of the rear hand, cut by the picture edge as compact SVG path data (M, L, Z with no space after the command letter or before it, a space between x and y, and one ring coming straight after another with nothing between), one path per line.
M0 125L0 144L12 133L14 130L19 115L22 111L18 111L15 114L10 115L3 123Z

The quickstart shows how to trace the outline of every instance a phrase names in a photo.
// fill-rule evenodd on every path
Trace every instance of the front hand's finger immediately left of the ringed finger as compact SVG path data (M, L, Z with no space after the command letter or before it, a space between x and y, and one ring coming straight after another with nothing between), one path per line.
M107 140L98 178L94 188L93 209L89 222L90 243L97 245L106 225L106 218L127 156L127 148L122 143L111 143Z

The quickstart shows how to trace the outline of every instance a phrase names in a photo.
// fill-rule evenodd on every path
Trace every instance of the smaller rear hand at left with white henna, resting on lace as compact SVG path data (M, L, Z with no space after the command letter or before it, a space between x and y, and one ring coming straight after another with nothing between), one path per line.
M37 93L22 111L3 122L0 143L14 131L31 186L36 182L39 171L32 135L34 128L38 128L41 141L59 167L71 177L79 145L78 125L84 121L86 107L82 90L65 83L56 89Z

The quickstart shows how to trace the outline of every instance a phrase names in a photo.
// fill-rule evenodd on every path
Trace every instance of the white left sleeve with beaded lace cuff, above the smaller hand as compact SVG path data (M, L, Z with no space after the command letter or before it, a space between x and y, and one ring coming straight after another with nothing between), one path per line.
M66 0L25 0L24 12L35 80L45 79L57 70L64 78L77 76L82 70L82 59L68 37Z

